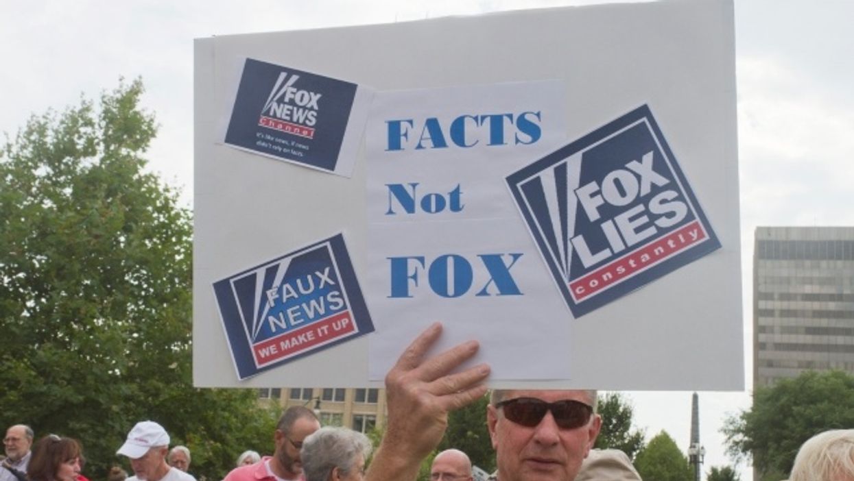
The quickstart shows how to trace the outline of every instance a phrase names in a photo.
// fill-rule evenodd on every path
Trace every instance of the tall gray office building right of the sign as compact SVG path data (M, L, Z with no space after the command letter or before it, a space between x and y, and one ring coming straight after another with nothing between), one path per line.
M854 227L759 227L753 252L753 385L854 374Z

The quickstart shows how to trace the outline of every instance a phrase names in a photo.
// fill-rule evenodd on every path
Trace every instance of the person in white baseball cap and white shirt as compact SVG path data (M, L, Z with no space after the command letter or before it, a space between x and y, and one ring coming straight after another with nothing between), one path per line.
M190 474L170 467L166 462L168 453L169 435L163 426L149 420L137 422L116 451L131 460L134 475L127 481L196 481Z

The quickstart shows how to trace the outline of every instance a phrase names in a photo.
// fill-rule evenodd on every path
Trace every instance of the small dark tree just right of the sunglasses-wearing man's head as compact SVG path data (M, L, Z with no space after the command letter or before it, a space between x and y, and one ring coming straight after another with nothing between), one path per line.
M602 429L596 438L597 449L620 449L630 459L643 449L645 433L632 430L634 409L619 392L609 392L599 398L598 411L602 416Z

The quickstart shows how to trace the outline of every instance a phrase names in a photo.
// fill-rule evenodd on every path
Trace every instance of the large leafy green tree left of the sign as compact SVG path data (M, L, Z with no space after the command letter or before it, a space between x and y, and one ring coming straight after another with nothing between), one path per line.
M144 171L142 94L122 82L0 147L0 426L79 438L104 478L133 424L157 420L221 478L270 450L275 413L254 390L192 387L190 212Z

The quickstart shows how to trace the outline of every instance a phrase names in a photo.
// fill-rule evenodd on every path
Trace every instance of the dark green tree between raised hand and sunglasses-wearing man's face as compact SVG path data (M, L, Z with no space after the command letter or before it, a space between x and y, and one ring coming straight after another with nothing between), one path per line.
M457 409L447 416L447 431L437 452L445 449L459 449L469 455L471 464L487 472L495 469L495 451L486 426L486 407L489 397L484 396L463 409Z

